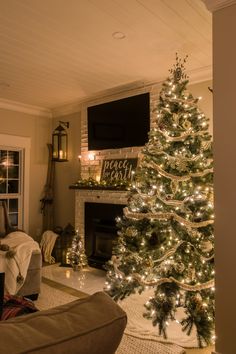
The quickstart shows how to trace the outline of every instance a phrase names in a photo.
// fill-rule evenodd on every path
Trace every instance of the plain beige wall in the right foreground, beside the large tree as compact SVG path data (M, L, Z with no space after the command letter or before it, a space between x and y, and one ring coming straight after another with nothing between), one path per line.
M213 13L216 351L236 352L236 5Z

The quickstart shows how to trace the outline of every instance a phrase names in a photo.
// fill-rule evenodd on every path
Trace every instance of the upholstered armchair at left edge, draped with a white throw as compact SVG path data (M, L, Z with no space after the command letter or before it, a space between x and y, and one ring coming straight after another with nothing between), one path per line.
M19 232L14 228L9 220L5 201L0 201L0 241L4 239L1 243L7 243L8 235L11 236L15 234L15 237L19 237ZM32 239L33 241L33 239ZM24 280L24 284L17 292L17 295L30 297L32 300L36 300L38 294L40 293L40 283L41 283L41 268L42 268L42 255L41 251L34 250L31 254L27 274ZM3 269L0 269L0 272Z

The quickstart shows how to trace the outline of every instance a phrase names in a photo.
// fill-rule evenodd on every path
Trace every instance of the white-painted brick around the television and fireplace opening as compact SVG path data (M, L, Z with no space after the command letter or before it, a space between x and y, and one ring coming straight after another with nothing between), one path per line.
M138 95L141 93L150 93L150 125L154 124L154 104L157 102L159 85L149 85L142 89L132 89L119 94L113 94L103 99L95 99L89 104L84 104L81 114L81 178L92 177L99 180L102 161L104 159L118 158L136 158L141 147L129 147L123 149L110 149L100 151L88 151L88 128L87 128L87 107L118 100L121 98ZM135 127L134 127L135 134ZM93 154L94 160L89 159L89 154ZM127 204L127 192L119 190L95 190L95 189L76 189L75 188L75 228L79 231L82 240L85 240L85 203L106 203L106 204Z

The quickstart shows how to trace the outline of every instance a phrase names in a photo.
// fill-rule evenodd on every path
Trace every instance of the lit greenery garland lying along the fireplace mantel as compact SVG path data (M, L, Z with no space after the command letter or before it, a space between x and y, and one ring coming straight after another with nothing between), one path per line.
M77 182L72 184L70 189L105 189L105 190L118 190L118 191L128 191L131 188L131 183L129 181L123 180L106 180L106 181L96 181L93 178L79 179Z

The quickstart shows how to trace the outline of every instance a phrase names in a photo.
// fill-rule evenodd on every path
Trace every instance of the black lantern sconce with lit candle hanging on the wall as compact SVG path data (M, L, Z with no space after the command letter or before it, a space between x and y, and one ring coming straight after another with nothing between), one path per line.
M68 136L63 126L69 128L69 122L59 121L52 134L52 160L57 162L68 161Z

